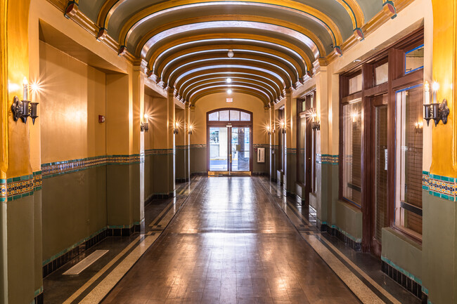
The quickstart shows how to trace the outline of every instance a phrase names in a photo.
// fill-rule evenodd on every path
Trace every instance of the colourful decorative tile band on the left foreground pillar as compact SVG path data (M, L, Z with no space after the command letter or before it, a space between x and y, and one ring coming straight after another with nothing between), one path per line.
M18 176L0 180L0 201L13 201L28 197L34 191L41 190L41 171L28 176Z

